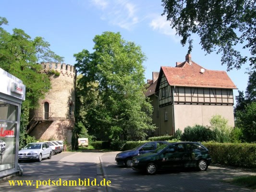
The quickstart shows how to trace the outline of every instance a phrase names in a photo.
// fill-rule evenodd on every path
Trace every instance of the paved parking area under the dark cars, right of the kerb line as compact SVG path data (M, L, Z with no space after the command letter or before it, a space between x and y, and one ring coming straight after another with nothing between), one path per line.
M229 169L209 166L207 171L195 170L160 172L156 175L146 175L115 164L118 152L105 153L100 156L101 164L112 185L111 192L251 192L226 182L234 176L256 173L242 172L239 169Z

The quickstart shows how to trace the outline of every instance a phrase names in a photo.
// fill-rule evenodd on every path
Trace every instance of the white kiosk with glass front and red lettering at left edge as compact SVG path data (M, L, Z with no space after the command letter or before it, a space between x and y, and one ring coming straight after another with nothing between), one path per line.
M0 68L0 178L19 172L18 151L21 103L25 85Z

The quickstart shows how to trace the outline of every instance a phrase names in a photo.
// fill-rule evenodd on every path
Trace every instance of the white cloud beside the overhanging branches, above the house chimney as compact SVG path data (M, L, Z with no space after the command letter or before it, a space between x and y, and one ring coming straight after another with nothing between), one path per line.
M163 16L157 16L152 19L149 26L161 34L176 37L176 30L171 28L170 22L166 21L166 18Z

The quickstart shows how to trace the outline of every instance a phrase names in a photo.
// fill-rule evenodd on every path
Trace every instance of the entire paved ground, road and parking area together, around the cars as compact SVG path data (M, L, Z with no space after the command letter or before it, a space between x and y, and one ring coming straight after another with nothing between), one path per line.
M10 186L0 182L0 192L250 192L226 182L234 176L256 175L240 169L210 166L205 172L195 170L162 171L146 175L115 164L118 152L64 152L42 162L22 162L24 176L10 180L33 180L31 186ZM49 180L110 180L106 186L49 186ZM37 186L41 183L41 186ZM44 182L44 183L43 183ZM43 186L45 184L45 186ZM38 187L38 188L37 188Z

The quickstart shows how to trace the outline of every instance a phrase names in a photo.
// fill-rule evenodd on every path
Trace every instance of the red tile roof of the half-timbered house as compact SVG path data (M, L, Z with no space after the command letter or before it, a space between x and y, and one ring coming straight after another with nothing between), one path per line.
M177 67L161 67L161 71L170 85L237 89L226 72L207 70L194 61L191 64L184 61Z

